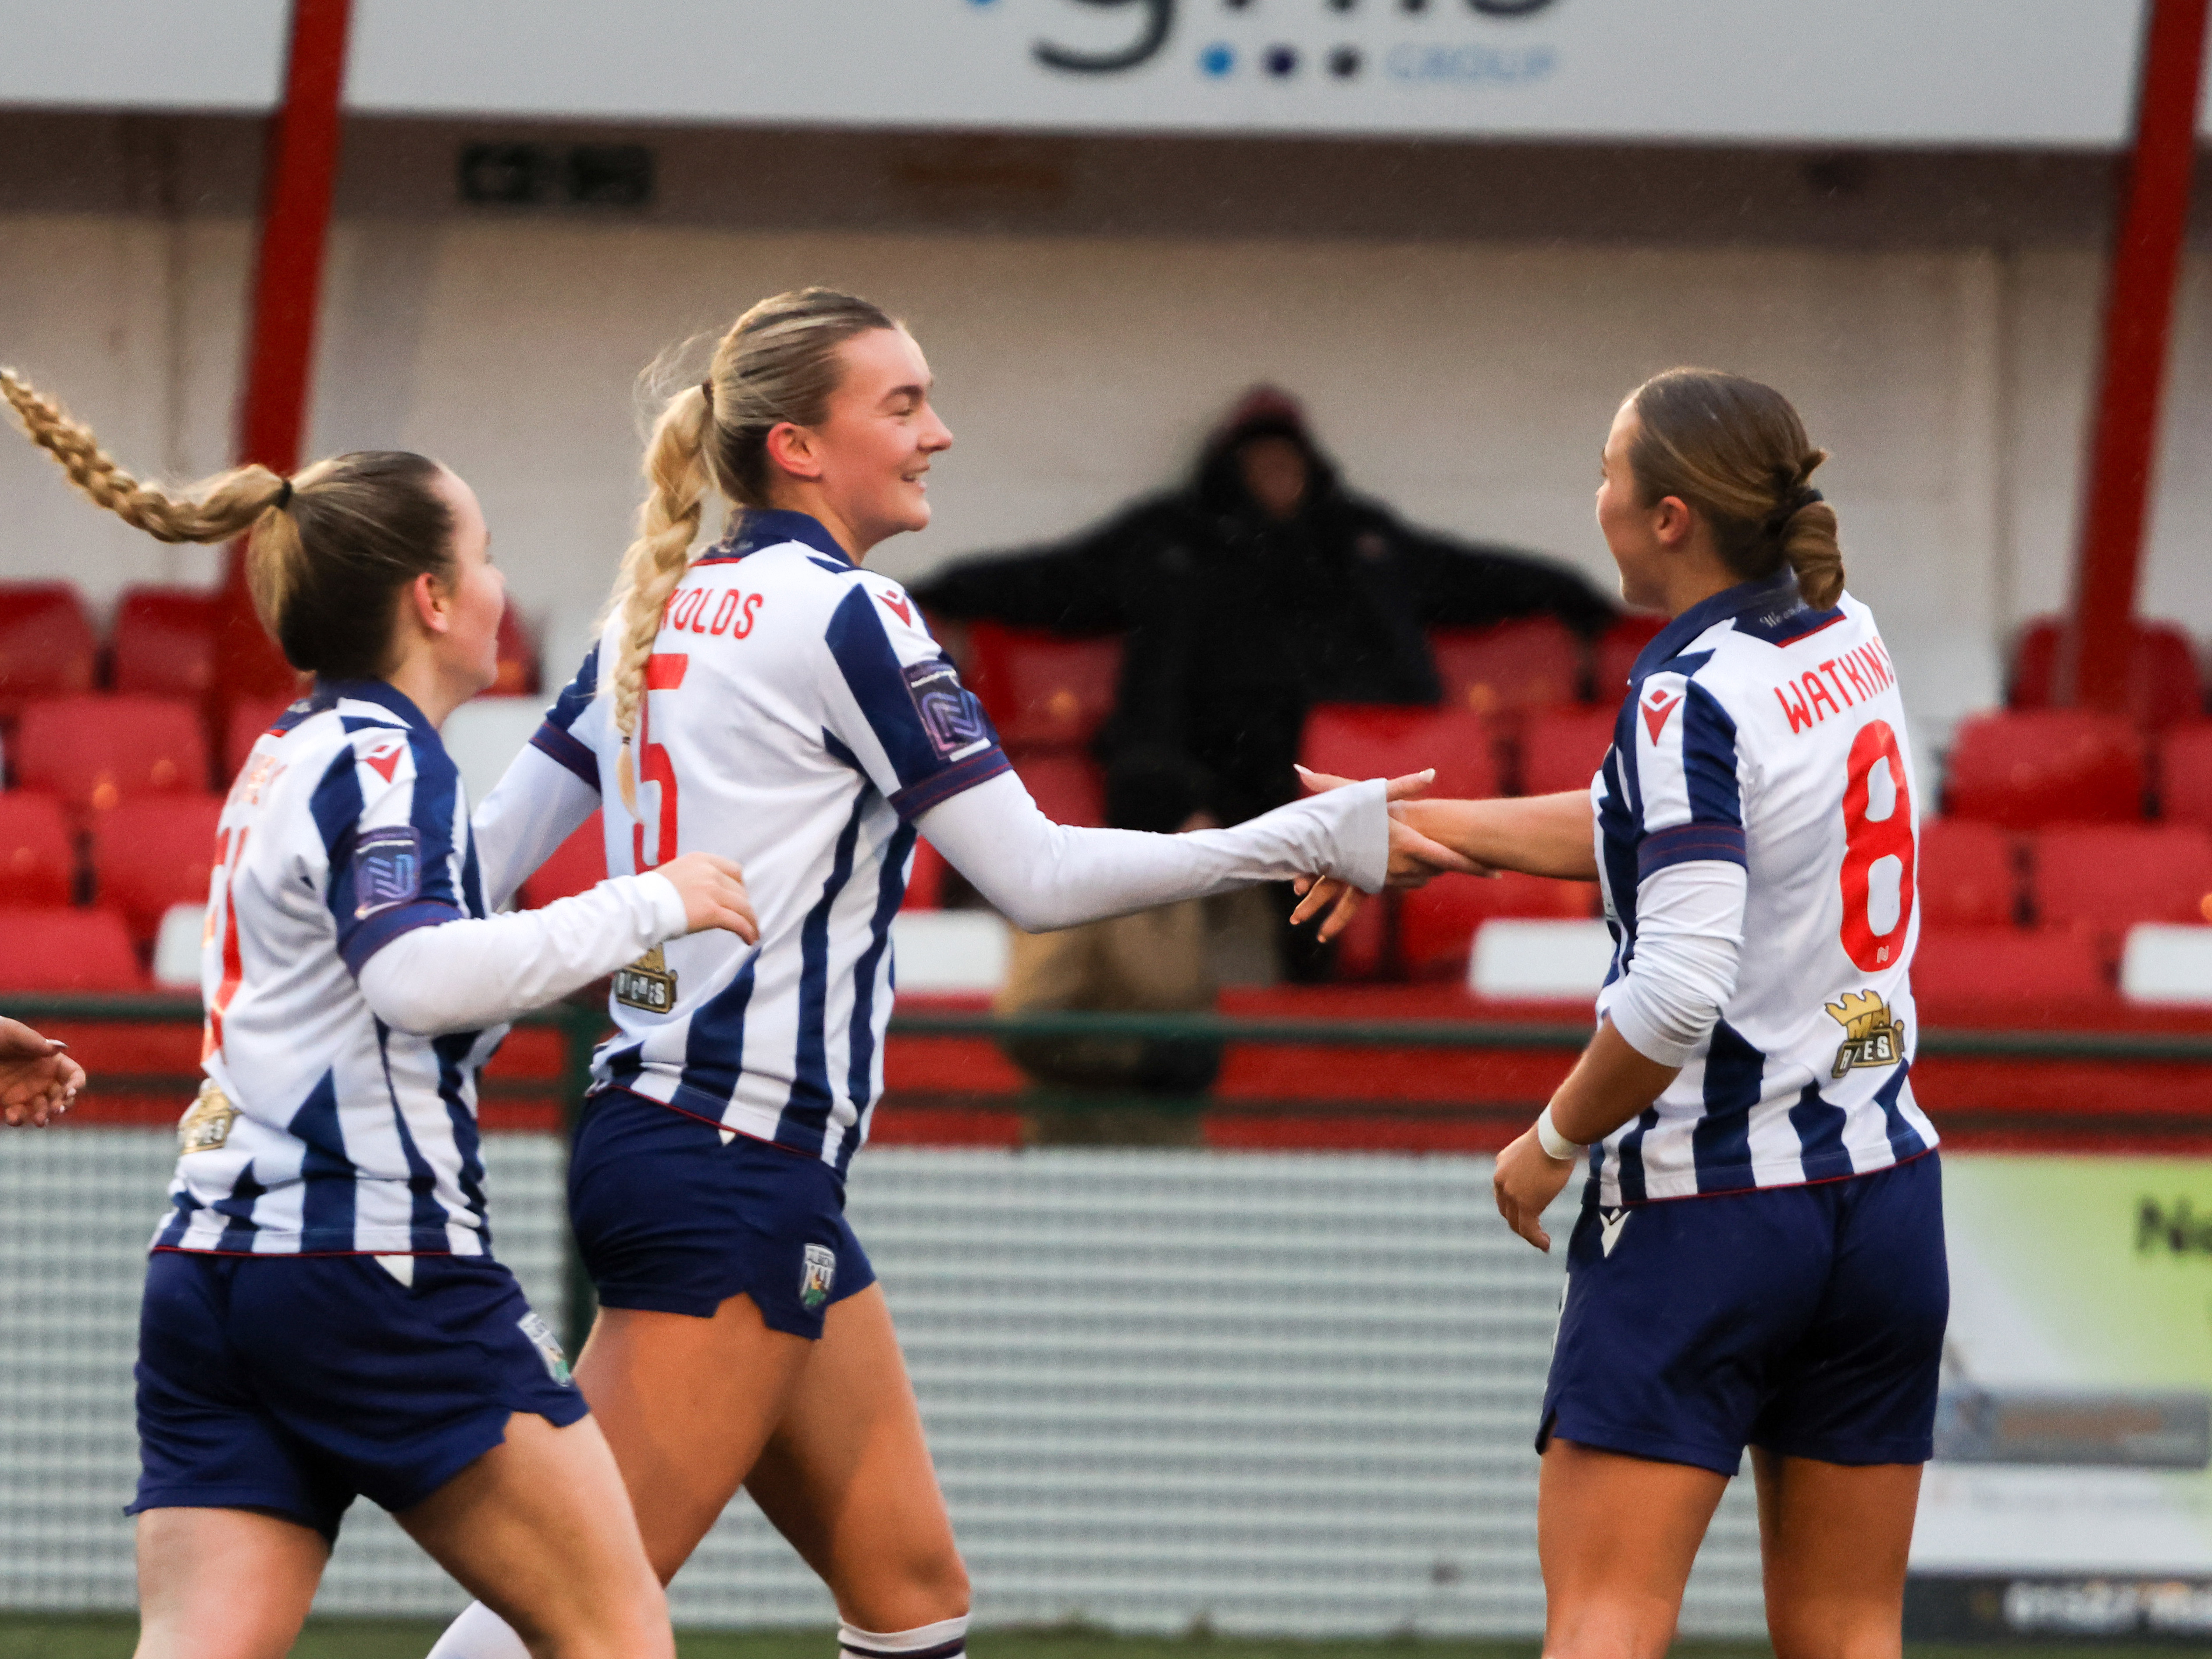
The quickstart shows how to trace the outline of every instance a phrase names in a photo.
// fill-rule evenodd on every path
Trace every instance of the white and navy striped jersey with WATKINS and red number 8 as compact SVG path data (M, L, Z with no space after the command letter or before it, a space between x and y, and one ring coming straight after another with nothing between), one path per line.
M1615 936L1599 1018L1635 973L1639 887L1745 869L1734 993L1674 1084L1590 1148L1593 1199L1829 1181L1936 1146L1911 1091L1918 796L1874 613L1812 611L1785 573L1674 617L1637 657L1593 801Z

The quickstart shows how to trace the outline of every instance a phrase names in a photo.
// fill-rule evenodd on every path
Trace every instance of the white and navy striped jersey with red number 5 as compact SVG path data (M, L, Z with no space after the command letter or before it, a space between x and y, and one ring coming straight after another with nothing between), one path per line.
M593 1073L843 1172L883 1093L914 821L1009 770L998 734L898 582L805 513L745 513L661 617L633 816L599 684L617 633L533 743L602 792L611 874L734 858L761 940L692 933L617 973Z

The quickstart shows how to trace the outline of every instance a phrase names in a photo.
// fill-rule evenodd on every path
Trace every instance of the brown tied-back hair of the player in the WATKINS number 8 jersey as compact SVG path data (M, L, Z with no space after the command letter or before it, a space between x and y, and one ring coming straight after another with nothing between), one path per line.
M1843 595L1836 509L1812 487L1827 460L1790 398L1717 369L1668 369L1628 394L1628 465L1646 504L1679 495L1712 524L1723 564L1745 582L1785 564L1814 611Z

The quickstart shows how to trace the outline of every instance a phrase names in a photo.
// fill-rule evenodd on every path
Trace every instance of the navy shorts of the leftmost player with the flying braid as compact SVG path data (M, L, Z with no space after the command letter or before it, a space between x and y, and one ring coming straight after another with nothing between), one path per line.
M484 1256L157 1250L139 1310L142 1509L265 1509L336 1540L356 1493L420 1504L515 1411L584 1416L553 1334Z

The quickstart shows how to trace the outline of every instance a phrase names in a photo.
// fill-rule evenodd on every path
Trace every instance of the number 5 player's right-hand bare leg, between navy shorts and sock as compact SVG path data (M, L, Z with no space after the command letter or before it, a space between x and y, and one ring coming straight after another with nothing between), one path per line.
M821 1573L849 1624L914 1630L969 1610L967 1571L880 1285L830 1310L745 1491Z

